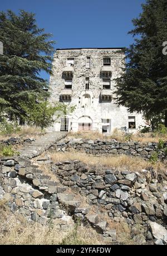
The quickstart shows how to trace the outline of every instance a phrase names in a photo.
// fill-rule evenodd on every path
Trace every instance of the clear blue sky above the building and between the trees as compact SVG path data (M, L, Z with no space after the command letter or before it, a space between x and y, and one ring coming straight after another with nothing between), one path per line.
M4 0L1 11L36 13L37 25L52 33L56 48L127 47L132 18L145 0ZM43 78L48 75L41 73Z

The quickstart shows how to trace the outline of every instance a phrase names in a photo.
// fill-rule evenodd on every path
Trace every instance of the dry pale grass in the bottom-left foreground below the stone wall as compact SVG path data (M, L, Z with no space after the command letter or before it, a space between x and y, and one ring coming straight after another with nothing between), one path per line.
M0 244L102 244L92 228L74 226L70 231L60 231L53 220L51 226L28 223L21 214L13 214L0 201Z

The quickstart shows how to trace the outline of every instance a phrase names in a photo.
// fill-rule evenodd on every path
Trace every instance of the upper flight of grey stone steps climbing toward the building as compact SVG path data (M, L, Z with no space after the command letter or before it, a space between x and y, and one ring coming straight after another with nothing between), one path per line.
M40 138L37 138L36 141L32 142L30 145L19 149L18 152L21 157L29 159L40 156L40 154L56 144L60 139L65 138L66 135L66 132L46 133Z

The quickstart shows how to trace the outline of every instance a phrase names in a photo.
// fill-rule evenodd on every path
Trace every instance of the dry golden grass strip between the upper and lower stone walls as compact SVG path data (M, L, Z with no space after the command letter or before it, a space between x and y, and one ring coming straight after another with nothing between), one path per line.
M71 150L69 152L50 152L51 160L53 162L61 162L66 160L80 160L85 164L91 166L96 165L98 167L104 166L109 168L115 168L116 170L128 170L128 171L141 171L146 168L154 167L158 171L166 170L165 165L158 161L153 165L149 161L145 161L140 157L127 156L121 154L119 156L100 156L96 157L84 152L76 152Z

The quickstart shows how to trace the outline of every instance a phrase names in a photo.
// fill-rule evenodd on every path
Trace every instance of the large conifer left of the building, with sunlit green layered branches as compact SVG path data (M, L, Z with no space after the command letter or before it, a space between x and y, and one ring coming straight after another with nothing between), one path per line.
M52 74L51 61L54 41L50 33L36 25L35 14L23 10L19 15L12 11L0 12L0 111L9 119L19 120L26 115L21 108L31 96L45 98L48 81L40 71Z

